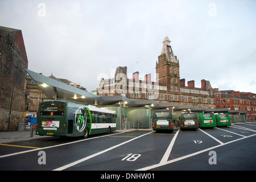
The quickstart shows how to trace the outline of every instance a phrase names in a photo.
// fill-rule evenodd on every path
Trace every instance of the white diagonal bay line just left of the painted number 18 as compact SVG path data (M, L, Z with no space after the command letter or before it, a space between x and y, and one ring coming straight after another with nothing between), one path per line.
M80 160L77 160L77 161L75 161L75 162L73 162L73 163L69 163L69 164L67 164L67 165L65 165L65 166L62 166L62 167L53 169L53 171L62 171L62 170L67 169L67 168L69 168L69 167L75 166L76 164L79 164L79 163L81 163L81 162L84 162L85 160L88 160L88 159L94 158L95 156L104 154L105 152L108 152L108 151L110 151L110 150L113 150L114 148L117 148L117 147L119 147L119 146L122 146L123 144L129 143L129 142L131 142L131 141L133 141L133 140L135 140L135 139L144 137L145 135L151 134L152 132L154 132L154 131L151 131L150 133L146 133L146 134L140 135L139 137L136 137L136 138L127 140L126 142L119 143L119 144L117 144L117 145L115 145L115 146L113 146L113 147L107 148L107 149L104 150L104 151L100 151L100 152L97 152L96 154L89 155L89 156L87 156L87 157L85 157L85 158L82 158L82 159L80 159Z

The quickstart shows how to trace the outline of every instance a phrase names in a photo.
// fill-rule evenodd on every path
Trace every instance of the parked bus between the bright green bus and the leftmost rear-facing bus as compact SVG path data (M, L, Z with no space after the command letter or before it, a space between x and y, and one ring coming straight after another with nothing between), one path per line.
M198 129L198 120L195 113L182 113L180 115L180 127L183 129Z

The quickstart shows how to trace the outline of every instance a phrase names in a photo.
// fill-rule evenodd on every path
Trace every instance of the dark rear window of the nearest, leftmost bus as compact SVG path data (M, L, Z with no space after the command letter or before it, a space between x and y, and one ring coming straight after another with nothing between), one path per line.
M61 102L43 103L40 109L40 115L64 115L65 104Z

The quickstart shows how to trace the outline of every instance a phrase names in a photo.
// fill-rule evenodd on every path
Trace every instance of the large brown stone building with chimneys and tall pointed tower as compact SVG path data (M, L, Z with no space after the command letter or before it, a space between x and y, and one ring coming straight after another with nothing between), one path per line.
M101 79L97 87L99 96L125 96L133 100L154 100L158 103L174 102L176 105L216 108L216 101L210 82L201 80L201 88L195 88L195 81L180 79L179 59L174 55L171 40L166 36L156 61L156 82L151 73L139 80L139 72L133 73L133 79L127 78L127 67L118 67L115 77Z

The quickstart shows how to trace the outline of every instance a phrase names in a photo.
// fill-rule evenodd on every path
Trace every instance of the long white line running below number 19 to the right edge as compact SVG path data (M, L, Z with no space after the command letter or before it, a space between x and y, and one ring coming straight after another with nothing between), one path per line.
M206 149L204 149L204 150L195 152L195 153L193 153L193 154L189 154L189 155L185 155L185 156L182 156L182 157L180 157L180 158L177 158L177 159L169 160L169 161L167 161L166 164L171 164L171 163L177 162L177 161L179 161L179 160L187 159L187 158L190 158L190 157L192 157L192 156L201 154L201 153L203 153L203 152L207 152L207 151L209 151L209 150L213 150L214 148L218 148L218 147L221 147L221 146L225 146L226 144L233 143L233 142L237 142L237 141L239 141L239 140L243 140L243 139L250 138L250 137L254 137L254 136L256 136L256 134L250 135L250 136L247 136L247 137L243 137L243 138L238 138L238 139L232 140L232 141L230 141L230 142L218 144L217 146L210 147L210 148L206 148ZM154 168L157 168L157 167L165 166L166 164L155 164L155 165L152 165L152 166L148 166L148 167L144 167L144 168L141 168L141 169L137 169L136 171L147 171L147 170L154 169Z

